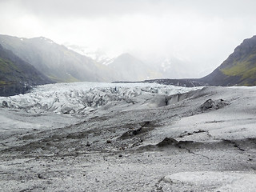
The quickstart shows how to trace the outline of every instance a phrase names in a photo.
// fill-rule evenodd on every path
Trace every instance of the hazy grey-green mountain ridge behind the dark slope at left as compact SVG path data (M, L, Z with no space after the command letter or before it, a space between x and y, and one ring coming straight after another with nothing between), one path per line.
M55 82L114 80L105 66L48 38L16 38L0 35L0 43Z

